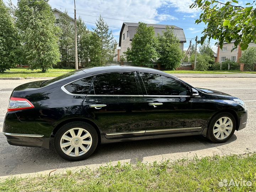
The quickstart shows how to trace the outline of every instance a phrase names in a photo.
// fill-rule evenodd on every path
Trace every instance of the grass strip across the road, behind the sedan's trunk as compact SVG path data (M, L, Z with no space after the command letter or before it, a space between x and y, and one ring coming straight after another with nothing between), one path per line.
M42 73L39 69L31 71L25 68L13 68L6 70L5 73L0 73L0 78L57 77L74 70L75 69L49 69L47 73Z

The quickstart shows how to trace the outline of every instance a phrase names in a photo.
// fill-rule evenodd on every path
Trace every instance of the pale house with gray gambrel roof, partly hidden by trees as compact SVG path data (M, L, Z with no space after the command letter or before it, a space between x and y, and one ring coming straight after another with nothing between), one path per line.
M162 35L166 31L166 26L173 28L174 35L180 40L180 48L183 51L184 43L186 43L186 37L182 28L175 25L160 25L160 24L146 24L148 27L154 27L155 36ZM137 28L139 23L129 23L124 22L119 35L119 47L117 48L117 57L114 58L114 61L120 61L120 56L124 55L127 48L131 47L132 39L137 33Z

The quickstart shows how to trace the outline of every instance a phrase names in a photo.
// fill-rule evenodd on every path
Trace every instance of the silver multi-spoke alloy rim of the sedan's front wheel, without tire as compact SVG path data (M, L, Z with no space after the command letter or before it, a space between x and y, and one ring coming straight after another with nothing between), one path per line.
M227 138L233 130L233 122L229 117L221 117L214 124L214 137L223 140Z

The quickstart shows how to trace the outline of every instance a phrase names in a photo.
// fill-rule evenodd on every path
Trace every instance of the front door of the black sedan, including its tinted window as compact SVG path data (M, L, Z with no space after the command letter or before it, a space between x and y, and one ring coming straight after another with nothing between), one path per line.
M191 107L191 88L167 75L139 72L147 104L145 135L200 131Z

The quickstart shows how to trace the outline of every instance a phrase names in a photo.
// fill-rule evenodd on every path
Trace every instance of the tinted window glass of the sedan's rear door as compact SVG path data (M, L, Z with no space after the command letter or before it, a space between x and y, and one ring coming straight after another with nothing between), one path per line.
M95 95L138 95L133 72L97 75L92 91Z

